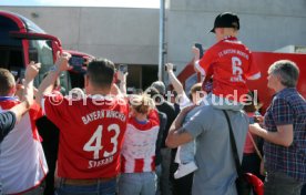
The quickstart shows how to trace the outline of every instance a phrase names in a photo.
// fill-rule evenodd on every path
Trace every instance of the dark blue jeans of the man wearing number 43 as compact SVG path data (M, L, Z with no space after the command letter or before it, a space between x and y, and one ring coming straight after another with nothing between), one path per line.
M61 179L55 195L115 195L116 178L94 185L68 185Z

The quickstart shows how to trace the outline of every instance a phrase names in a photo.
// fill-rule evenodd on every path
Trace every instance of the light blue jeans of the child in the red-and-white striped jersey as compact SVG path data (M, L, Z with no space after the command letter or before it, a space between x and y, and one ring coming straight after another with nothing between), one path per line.
M154 172L123 173L119 178L120 195L155 195L156 174Z

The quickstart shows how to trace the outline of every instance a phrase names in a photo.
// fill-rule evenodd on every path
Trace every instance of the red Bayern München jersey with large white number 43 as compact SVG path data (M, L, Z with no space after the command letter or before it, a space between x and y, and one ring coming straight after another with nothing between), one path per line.
M45 115L60 129L58 174L65 178L114 177L126 129L125 100L89 96L71 100L44 96Z

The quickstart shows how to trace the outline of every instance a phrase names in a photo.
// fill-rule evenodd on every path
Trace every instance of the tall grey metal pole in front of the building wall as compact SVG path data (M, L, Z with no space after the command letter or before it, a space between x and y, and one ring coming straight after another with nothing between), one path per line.
M160 44L159 44L159 81L164 79L164 18L165 18L165 2L160 2Z

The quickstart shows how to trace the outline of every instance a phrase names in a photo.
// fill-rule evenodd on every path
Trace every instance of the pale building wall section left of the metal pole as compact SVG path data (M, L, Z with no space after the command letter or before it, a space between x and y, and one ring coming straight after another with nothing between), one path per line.
M20 13L64 49L103 57L115 63L157 64L159 10L122 8L2 7ZM38 17L33 18L33 13Z

